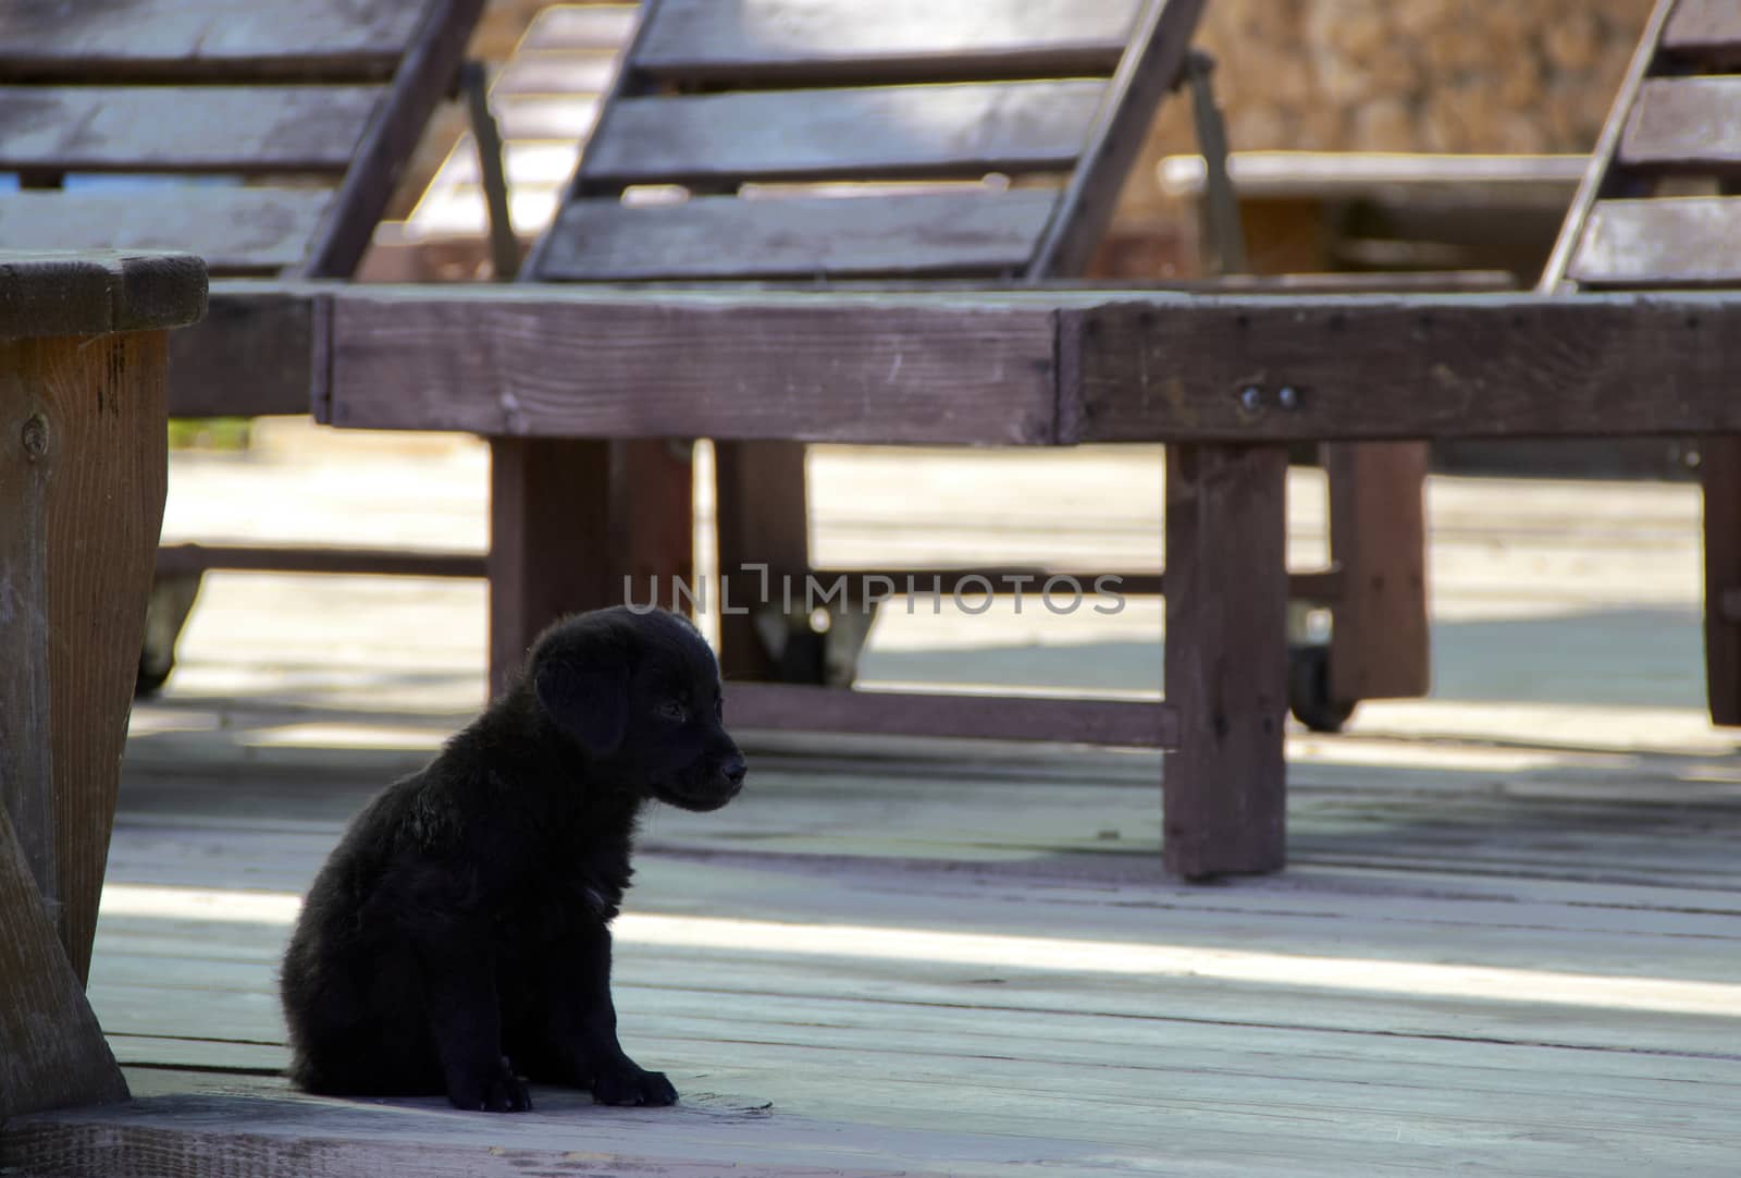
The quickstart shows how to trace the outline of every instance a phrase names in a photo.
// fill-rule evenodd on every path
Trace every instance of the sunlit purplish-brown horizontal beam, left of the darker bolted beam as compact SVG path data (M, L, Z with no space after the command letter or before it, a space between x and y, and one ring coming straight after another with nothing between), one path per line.
M1052 308L931 300L353 289L322 420L541 437L1043 444Z

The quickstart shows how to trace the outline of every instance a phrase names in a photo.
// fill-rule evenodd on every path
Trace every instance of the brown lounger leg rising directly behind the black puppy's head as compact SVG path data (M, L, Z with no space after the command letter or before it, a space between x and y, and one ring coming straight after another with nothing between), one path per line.
M489 441L489 688L500 694L545 626L623 599L611 556L602 441ZM613 575L616 573L616 575Z

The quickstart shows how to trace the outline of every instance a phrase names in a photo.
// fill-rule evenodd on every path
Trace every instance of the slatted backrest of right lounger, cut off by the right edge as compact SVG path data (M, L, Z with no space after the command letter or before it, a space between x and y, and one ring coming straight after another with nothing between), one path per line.
M1741 3L1659 0L1544 289L1741 284Z

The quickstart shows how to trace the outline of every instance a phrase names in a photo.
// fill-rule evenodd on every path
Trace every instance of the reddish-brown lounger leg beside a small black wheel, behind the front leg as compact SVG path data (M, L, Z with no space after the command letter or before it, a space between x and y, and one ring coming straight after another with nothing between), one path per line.
M1426 443L1323 448L1330 558L1342 592L1330 631L1330 697L1426 695Z

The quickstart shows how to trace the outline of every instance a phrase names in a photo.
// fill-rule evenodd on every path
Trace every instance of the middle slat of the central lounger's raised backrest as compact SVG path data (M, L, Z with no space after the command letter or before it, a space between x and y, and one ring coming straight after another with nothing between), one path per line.
M1104 92L1083 80L629 98L585 169L595 185L1064 171Z

